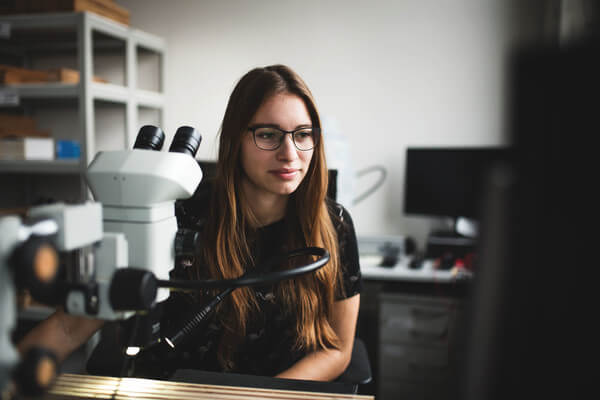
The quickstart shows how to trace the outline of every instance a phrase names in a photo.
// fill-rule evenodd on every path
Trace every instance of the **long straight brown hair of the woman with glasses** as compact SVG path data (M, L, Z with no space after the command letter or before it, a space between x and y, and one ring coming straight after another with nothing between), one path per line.
M263 102L278 93L300 97L313 127L321 122L312 94L304 81L289 67L273 65L256 68L235 86L220 131L219 157L206 221L202 258L204 277L229 279L241 276L252 265L249 240L256 231L256 219L241 190L243 169L240 161L242 135ZM336 291L342 287L336 231L329 216L325 196L328 173L323 140L318 140L306 176L290 195L286 210L289 249L304 246L326 248L330 261L316 273L279 283L278 301L296 319L295 348L312 351L337 347L338 338L330 325ZM198 275L201 274L197 270ZM207 275L207 276L206 276ZM235 346L245 336L246 324L257 310L254 294L248 288L235 290L217 310L224 327L219 345L219 361L233 366Z

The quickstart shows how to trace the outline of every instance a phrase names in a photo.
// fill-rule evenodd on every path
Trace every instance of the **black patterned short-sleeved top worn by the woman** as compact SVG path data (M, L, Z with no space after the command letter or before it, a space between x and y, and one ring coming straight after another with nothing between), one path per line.
M197 217L198 213L195 213L189 204L187 208L179 205L177 214L180 227L201 224ZM195 202L195 207L199 207L198 202ZM344 207L328 200L328 208L340 245L343 291L338 290L336 298L342 300L359 294L362 289L356 234L350 214ZM284 220L258 229L254 246L257 265L275 256L276 252L282 249L285 235ZM183 265L186 263L184 262ZM228 368L230 372L274 376L305 355L301 351L293 350L295 320L293 315L282 309L277 301L276 291L273 289L273 286L251 289L255 293L260 311L246 327L246 336L234 353L233 365ZM201 308L201 305L194 304L190 300L189 295L177 293L172 293L163 306L164 317L161 320L161 329L165 331L181 326L182 321L189 319L189 315ZM213 313L201 329L196 330L189 340L177 347L178 351L168 357L164 354L159 358L156 354L141 357L137 362L139 368L136 375L166 377L175 369L223 372L225 369L217 359L222 329L218 316ZM150 365L153 367L147 368ZM159 369L156 368L158 366Z

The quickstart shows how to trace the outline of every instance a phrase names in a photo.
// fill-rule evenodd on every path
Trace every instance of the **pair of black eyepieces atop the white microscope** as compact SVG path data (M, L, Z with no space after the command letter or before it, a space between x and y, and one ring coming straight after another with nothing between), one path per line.
M154 125L144 125L138 132L133 148L160 151L164 141L165 134L162 129ZM181 126L175 132L169 152L185 153L196 157L201 141L200 132L191 126Z

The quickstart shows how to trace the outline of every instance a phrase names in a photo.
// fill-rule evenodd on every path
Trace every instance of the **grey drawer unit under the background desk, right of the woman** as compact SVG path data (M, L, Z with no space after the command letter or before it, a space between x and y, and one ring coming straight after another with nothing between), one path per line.
M450 399L458 300L384 293L379 313L379 399Z

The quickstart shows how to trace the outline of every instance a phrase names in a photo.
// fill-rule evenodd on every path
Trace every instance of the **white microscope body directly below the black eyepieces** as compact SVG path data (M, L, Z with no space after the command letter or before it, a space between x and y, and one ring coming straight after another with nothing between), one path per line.
M104 239L96 251L99 285L98 318L122 319L110 304L109 286L118 268L150 271L169 279L175 264L177 220L175 200L194 194L202 170L193 157L176 152L141 149L99 152L86 174L94 198L102 204ZM156 301L166 300L159 288ZM67 311L88 315L81 295L67 299Z

